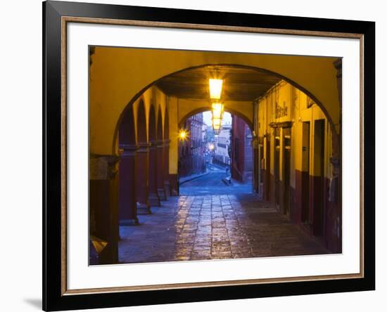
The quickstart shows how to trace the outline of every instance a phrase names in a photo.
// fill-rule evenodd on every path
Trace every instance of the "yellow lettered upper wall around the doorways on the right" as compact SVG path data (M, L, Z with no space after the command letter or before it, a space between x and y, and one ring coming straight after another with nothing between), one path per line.
M279 114L276 116L277 106L287 107L287 115ZM311 175L319 176L319 168L313 164L318 162L313 150L315 149L315 120L324 119L324 176L331 177L333 174L329 158L332 155L332 131L331 126L326 119L326 115L317 104L312 104L307 108L307 95L287 82L279 82L272 89L267 91L264 96L256 102L258 107L258 123L255 124L255 133L263 138L265 134L270 136L270 146L264 141L264 148L270 149L270 173L274 175L274 128L269 126L272 122L291 122L291 186L296 184L295 170L305 171L303 166L303 122L310 122L310 162L309 171ZM284 110L282 110L283 112ZM281 129L281 145L283 143L283 133ZM281 155L283 155L283 146L281 146ZM265 155L265 152L264 152ZM280 178L282 179L282 162L280 161Z

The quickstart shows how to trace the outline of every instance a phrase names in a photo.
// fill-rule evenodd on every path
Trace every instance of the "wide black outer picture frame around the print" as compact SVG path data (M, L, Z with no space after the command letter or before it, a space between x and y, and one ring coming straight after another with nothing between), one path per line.
M63 295L61 288L63 230L61 228L63 200L61 192L63 148L61 141L61 18L64 16L362 34L364 36L364 278ZM374 22L46 1L43 3L43 38L43 309L45 311L375 289Z

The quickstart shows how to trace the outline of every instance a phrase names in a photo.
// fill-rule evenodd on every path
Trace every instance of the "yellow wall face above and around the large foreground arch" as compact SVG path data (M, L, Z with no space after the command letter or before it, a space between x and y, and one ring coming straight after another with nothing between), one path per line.
M207 64L246 65L277 72L312 93L338 124L335 58L96 47L91 59L91 153L117 152L120 115L148 85L173 72Z

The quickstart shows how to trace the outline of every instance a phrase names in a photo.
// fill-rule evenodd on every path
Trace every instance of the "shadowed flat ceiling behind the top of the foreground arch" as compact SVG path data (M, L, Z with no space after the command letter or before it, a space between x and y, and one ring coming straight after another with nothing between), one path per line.
M266 72L222 65L184 70L161 79L157 86L168 96L208 100L209 78L224 79L222 100L238 101L253 101L281 80Z

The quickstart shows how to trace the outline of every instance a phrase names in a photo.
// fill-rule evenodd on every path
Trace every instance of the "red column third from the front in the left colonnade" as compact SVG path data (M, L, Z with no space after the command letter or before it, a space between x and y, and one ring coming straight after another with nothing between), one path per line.
M137 214L151 214L149 204L149 147L150 143L139 143L136 162Z

